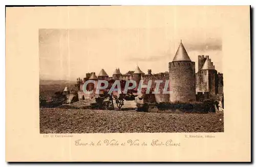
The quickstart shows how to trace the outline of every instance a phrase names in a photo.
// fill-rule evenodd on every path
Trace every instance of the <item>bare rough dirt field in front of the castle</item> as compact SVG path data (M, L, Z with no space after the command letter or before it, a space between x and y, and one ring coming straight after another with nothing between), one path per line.
M40 133L223 132L222 114L40 109Z

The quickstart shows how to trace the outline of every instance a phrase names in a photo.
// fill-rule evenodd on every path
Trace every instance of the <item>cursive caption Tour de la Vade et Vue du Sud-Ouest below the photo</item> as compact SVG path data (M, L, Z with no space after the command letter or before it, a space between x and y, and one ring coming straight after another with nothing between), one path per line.
M114 147L123 147L123 146L168 146L168 147L178 147L180 146L180 143L175 143L173 140L167 140L167 141L159 141L159 140L152 140L151 142L147 143L145 141L139 141L139 140L127 140L126 142L120 142L118 140L112 139L112 140L104 140L104 141L97 141L97 142L83 142L81 139L75 140L74 142L75 146L114 146Z

